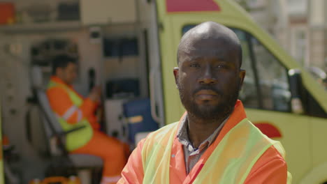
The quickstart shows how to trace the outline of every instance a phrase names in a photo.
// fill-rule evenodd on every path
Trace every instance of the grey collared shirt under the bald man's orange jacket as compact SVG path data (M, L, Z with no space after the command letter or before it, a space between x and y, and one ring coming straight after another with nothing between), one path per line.
M215 141L227 119L228 118L226 118L224 122L221 123L221 125L219 125L219 127L215 130L215 132L213 132L212 135L205 139L205 141L203 141L200 146L198 146L198 148L194 148L191 144L191 141L189 141L189 135L187 133L187 116L184 116L181 122L181 126L177 131L177 138L178 141L180 141L180 143L183 145L184 161L187 174L189 174L189 171L191 171L196 162L198 162L203 153L205 153L207 148Z

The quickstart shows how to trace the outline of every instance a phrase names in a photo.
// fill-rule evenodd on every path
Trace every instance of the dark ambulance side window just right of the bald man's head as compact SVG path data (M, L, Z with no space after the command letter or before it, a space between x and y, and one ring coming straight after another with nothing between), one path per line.
M240 100L245 107L289 112L291 92L286 68L252 35L240 29L233 31L242 43L242 68L247 71Z

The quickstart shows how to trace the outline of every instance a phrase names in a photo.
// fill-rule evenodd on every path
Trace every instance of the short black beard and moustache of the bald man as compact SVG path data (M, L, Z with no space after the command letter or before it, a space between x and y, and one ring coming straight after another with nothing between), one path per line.
M238 95L240 93L240 85L235 86L235 90L230 94L223 94L221 91L217 91L212 86L202 86L200 89L196 90L200 91L201 89L207 89L215 91L217 94L221 95L221 101L219 105L212 107L210 105L199 107L196 105L194 100L191 100L190 97L184 96L184 86L177 83L178 90L180 92L180 100L182 101L182 105L187 109L187 113L189 116L195 116L203 121L224 121L231 112L233 112L236 101L238 100ZM194 93L192 95L194 95Z

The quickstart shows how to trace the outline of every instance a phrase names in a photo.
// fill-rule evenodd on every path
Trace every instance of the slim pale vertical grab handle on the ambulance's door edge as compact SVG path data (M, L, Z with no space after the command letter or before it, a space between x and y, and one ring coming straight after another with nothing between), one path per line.
M153 68L150 70L149 74L149 85L150 85L150 105L151 105L151 116L157 123L160 124L160 117L157 114L157 103L156 103L156 89L155 89L155 79L156 73L159 71L159 65L155 64Z

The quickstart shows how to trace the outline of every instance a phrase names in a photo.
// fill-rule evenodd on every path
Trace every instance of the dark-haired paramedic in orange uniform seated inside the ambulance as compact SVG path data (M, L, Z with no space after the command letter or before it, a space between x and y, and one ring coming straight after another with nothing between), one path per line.
M77 67L75 59L69 56L54 58L53 75L47 90L50 106L64 130L85 125L85 128L67 135L68 151L99 156L104 162L101 184L117 183L126 164L126 145L99 131L94 112L100 91L94 88L87 98L74 91L72 84L77 77Z

